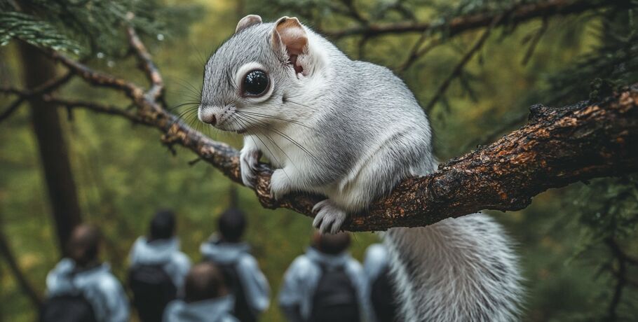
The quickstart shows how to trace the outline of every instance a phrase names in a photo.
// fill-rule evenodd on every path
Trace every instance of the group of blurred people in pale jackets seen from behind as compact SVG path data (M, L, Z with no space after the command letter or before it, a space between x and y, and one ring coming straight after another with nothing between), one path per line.
M270 287L242 240L246 218L238 209L219 216L218 232L201 244L192 265L179 248L175 214L158 211L149 234L129 255L125 287L100 261L101 233L93 225L72 232L63 258L46 278L40 321L129 321L130 304L142 322L258 321ZM369 246L364 265L351 257L351 237L313 236L306 253L285 272L278 297L288 321L396 321L385 246Z

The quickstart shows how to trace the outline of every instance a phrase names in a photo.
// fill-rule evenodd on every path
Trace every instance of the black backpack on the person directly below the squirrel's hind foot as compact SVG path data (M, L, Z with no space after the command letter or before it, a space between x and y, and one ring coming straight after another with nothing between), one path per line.
M357 290L343 266L326 267L323 264L321 277L313 295L311 322L355 322L361 321Z

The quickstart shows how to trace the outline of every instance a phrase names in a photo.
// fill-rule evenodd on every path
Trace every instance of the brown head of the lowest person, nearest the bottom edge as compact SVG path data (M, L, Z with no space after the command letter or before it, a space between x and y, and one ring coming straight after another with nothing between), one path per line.
M201 262L191 268L184 283L184 300L197 302L228 294L224 274L212 262Z

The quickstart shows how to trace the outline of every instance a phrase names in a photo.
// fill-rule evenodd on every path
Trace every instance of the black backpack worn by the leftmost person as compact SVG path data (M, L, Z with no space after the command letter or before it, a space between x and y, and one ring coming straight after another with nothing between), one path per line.
M56 295L44 302L40 322L97 322L93 306L81 292Z

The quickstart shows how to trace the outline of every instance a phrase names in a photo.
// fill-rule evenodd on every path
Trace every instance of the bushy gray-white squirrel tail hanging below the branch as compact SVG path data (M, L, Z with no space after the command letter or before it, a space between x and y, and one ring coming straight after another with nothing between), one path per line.
M518 259L492 218L472 214L385 235L400 321L516 321Z

